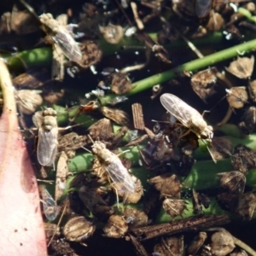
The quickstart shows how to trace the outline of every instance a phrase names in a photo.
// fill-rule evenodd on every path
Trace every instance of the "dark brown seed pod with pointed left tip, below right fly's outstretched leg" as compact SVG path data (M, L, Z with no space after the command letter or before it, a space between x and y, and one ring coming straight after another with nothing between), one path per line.
M242 194L244 191L246 177L238 171L218 173L222 189L234 194Z

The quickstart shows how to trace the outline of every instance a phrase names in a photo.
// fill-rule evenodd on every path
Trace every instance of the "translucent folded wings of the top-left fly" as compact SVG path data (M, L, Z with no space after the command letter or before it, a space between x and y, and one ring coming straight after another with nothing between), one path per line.
M79 48L79 44L73 39L69 32L57 32L52 38L70 61L79 62L82 60L82 52Z

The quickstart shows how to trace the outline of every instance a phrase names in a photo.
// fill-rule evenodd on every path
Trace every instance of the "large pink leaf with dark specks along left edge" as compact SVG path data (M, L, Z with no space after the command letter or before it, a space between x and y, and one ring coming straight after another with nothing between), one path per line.
M3 114L0 119L1 255L47 255L38 183L18 130L15 96L0 61Z

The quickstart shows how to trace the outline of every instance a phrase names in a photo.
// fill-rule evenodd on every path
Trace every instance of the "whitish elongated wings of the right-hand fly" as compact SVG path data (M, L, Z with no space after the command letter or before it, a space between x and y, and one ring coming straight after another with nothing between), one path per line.
M164 93L160 96L160 102L168 112L172 113L186 127L188 127L192 115L201 118L201 114L195 108L190 107L173 94Z

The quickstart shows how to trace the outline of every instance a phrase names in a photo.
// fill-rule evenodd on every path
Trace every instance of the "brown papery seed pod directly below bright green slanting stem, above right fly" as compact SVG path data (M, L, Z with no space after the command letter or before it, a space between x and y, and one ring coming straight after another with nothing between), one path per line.
M218 80L216 73L218 73L216 67L210 67L195 73L191 78L192 89L204 102L207 102L207 98L215 93L214 86Z

